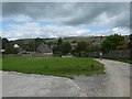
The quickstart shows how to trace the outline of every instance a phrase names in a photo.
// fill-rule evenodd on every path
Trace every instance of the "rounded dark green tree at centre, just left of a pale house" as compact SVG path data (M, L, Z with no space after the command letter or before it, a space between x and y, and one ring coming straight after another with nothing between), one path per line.
M72 46L69 42L64 42L61 44L59 50L65 55L72 52Z

